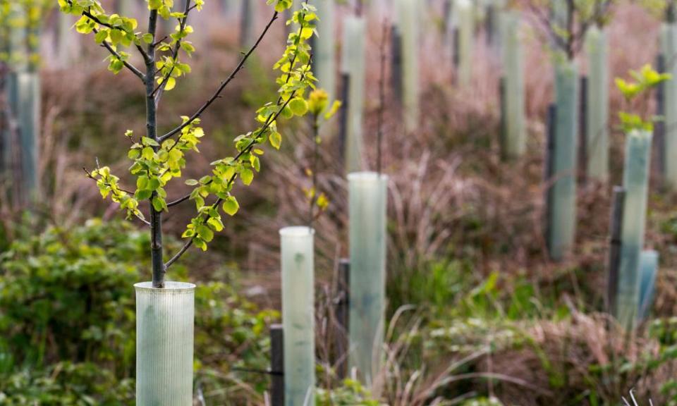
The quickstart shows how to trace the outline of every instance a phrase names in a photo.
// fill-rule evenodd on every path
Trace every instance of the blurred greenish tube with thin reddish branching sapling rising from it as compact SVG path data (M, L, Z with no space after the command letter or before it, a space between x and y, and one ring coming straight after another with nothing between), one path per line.
M555 149L553 161L550 257L570 252L576 230L576 152L578 144L578 69L573 62L555 65Z

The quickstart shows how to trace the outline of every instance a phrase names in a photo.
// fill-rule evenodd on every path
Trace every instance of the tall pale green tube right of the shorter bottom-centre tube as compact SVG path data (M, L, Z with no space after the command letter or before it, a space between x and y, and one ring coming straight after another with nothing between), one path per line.
M350 223L350 369L371 386L382 362L386 285L388 177L375 172L348 175Z

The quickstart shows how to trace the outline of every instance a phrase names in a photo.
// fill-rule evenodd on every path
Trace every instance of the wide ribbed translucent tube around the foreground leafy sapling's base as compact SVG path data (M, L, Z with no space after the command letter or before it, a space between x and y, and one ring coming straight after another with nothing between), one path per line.
M193 405L195 285L136 289L136 404Z

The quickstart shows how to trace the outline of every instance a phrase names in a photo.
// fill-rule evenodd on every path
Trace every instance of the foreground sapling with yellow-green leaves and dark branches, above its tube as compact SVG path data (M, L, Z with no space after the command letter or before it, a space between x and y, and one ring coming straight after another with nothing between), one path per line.
M120 73L123 69L136 75L146 97L146 133L135 135L131 130L125 133L131 147L128 157L129 168L136 179L135 189L121 185L121 179L111 173L107 166L99 166L87 172L96 181L102 197L120 204L128 217L135 217L150 228L152 281L155 288L164 287L166 270L174 264L192 245L207 250L207 244L214 233L224 229L221 213L233 216L240 205L233 191L236 180L250 185L255 173L260 171L261 147L270 144L279 149L282 142L278 131L281 118L304 116L308 111L305 94L314 87L315 77L310 70L312 59L308 40L315 32L315 8L301 4L288 21L296 28L288 37L287 47L274 69L279 70L276 83L279 86L276 101L264 104L257 110L255 120L258 127L249 133L235 137L233 156L226 156L212 162L212 172L200 179L185 180L193 190L183 197L170 199L166 185L175 178L181 178L186 166L186 154L199 152L197 146L205 136L200 127L200 116L218 100L224 88L235 78L245 62L254 53L258 44L269 31L279 14L292 7L292 0L267 0L274 5L274 12L265 29L243 56L231 75L222 80L212 97L190 116L182 116L181 123L164 135L158 133L157 114L163 92L172 90L179 79L190 73L186 58L195 52L189 35L193 27L188 25L188 16L193 10L200 11L204 0L186 0L183 11L173 10L173 0L147 0L148 23L140 29L137 20L115 13L106 13L97 0L59 0L63 13L80 16L75 28L82 34L93 34L94 41L109 51L109 70ZM166 38L157 37L158 20L176 20L175 31ZM136 68L130 59L129 49L135 49L145 63L145 71ZM190 220L182 235L185 245L169 260L164 260L162 247L162 215L170 207L183 202L195 204L195 216ZM142 214L141 202L147 202L150 219Z

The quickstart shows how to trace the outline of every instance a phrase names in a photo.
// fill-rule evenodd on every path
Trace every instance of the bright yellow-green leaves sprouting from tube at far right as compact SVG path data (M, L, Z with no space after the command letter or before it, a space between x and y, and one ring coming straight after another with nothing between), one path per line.
M616 78L616 87L631 109L638 109L637 105L640 102L644 105L637 113L618 112L623 133L628 134L633 130L651 132L654 129L654 123L660 121L662 117L652 115L646 107L646 101L650 90L666 80L671 80L669 73L658 73L649 64L642 66L640 70L630 70L630 80Z

